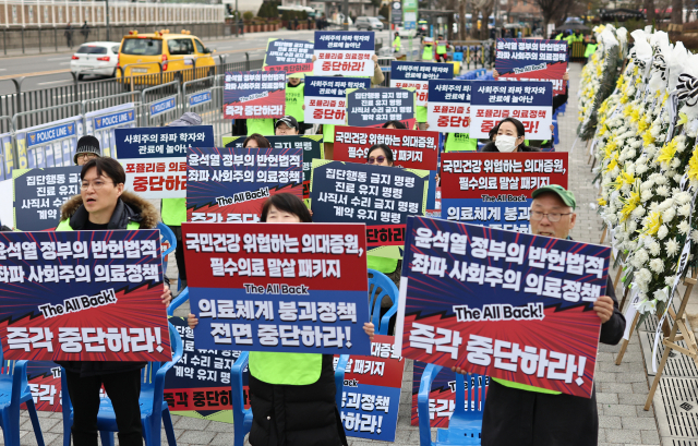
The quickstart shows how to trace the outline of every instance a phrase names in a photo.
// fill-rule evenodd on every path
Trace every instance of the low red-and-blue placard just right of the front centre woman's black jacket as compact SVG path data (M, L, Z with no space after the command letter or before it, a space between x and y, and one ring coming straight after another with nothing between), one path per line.
M347 436L395 442L404 372L394 336L375 335L371 355L349 357L339 408Z

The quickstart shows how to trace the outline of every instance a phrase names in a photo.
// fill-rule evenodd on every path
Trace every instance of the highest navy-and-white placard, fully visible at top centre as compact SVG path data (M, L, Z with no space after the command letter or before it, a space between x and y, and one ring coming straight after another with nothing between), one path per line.
M373 75L375 35L359 31L316 31L315 62L316 76L369 76Z

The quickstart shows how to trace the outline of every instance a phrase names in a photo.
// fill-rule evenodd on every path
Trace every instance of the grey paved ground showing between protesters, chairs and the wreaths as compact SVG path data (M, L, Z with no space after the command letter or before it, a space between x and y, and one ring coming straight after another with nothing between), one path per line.
M568 152L575 140L577 126L577 85L580 65L570 67L571 92L567 111L561 119L559 152ZM569 186L577 195L577 226L571 236L576 240L598 243L601 237L601 220L595 214L598 190L592 185L592 174L587 165L588 154L583 145L578 144L570 155ZM170 262L172 265L173 262ZM173 272L172 272L173 273ZM185 315L188 309L178 310L177 315ZM645 411L642 406L648 394L648 381L639 337L635 334L625 354L623 364L616 366L614 359L618 347L601 346L595 374L597 399L599 403L599 444L603 445L660 445L658 424L653 410ZM412 387L412 363L407 361L400 398L399 420L396 445L419 445L419 432L409 425L410 399ZM177 442L185 445L231 445L233 425L173 417ZM22 445L33 445L28 418L22 418ZM62 444L60 414L41 413L41 427L47 445ZM433 433L432 433L433 436ZM165 436L163 436L165 444ZM378 442L353 441L352 446L378 445ZM386 443L387 444L387 443ZM671 445L669 438L664 445ZM689 443L683 443L688 445Z

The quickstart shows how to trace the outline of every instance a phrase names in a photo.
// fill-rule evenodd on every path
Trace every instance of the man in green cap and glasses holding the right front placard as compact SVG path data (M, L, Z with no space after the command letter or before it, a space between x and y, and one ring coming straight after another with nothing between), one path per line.
M577 220L575 214L577 202L574 193L554 184L537 189L531 196L533 198L530 212L531 233L552 239L571 240L569 232ZM553 243L554 241L551 241L551 245ZM618 311L611 277L606 279L606 293L607 296L598 297L593 302L593 312L601 323L599 341L615 346L623 338L626 321L623 313ZM542 332L538 335L544 336ZM520 348L524 349L524 346ZM466 353L468 361L485 366L494 364L491 359L492 350L485 349L479 349L482 353L478 354ZM543 364L547 362L543 363L539 360L538 351L529 352L528 350L527 347L527 353L519 354L532 354L535 358L533 364L538 362L538 376L544 376L541 371L544 370ZM544 358L544 354L545 351L540 350L540 358ZM550 353L547 354L550 358ZM517 362L518 359L514 360L514 364ZM520 364L524 362L521 361ZM551 359L547 367L552 365ZM465 373L460 367L452 370ZM550 373L547 377L550 378ZM535 372L530 374L529 379L540 382ZM599 413L594 387L592 386L591 398L585 398L528 384L492 378L483 410L482 446L597 445Z

